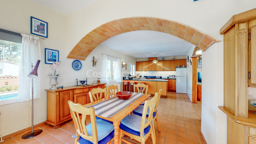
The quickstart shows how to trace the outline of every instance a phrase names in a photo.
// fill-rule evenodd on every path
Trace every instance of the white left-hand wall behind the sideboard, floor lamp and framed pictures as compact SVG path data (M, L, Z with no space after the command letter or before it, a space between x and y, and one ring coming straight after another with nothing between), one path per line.
M57 73L61 74L58 78L57 86L73 86L76 85L75 79L84 80L88 78L89 83L96 77L89 77L101 71L101 53L120 57L125 63L136 62L136 59L130 56L116 53L112 50L101 47L100 45L87 57L86 61L82 61L83 67L76 71L72 68L74 59L67 59L66 56L70 52L67 47L66 16L56 13L53 10L43 8L26 0L3 0L0 1L0 28L13 31L30 33L30 16L44 20L49 24L49 38L40 39L41 42L41 98L34 100L34 124L46 121L46 92L45 89L51 88L48 73L52 72L51 65L44 64L44 48L60 51L60 60L62 61ZM92 67L92 56L98 59L96 67ZM122 61L121 60L121 61ZM129 71L122 68L122 72ZM97 77L98 78L98 77ZM2 110L0 116L0 135L8 135L20 129L31 126L31 101L0 105ZM17 120L18 119L18 120Z

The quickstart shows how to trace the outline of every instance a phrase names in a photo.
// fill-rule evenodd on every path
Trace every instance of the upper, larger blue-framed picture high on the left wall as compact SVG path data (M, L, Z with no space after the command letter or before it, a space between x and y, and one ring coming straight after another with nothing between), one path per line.
M48 22L31 17L30 33L36 34L44 38L48 38Z

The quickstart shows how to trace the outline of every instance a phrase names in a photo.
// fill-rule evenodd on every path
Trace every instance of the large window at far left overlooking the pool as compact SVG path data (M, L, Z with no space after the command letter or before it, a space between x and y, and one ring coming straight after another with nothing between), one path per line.
M16 102L21 35L0 29L0 105Z

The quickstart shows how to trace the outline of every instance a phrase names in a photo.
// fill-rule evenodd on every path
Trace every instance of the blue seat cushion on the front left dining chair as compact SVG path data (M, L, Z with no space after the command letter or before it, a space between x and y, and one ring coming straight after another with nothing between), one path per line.
M98 143L107 143L114 137L114 126L106 121L101 119L96 120L97 125L97 134L98 134ZM87 133L89 136L92 136L91 124L86 126ZM82 137L78 140L79 143L93 143L92 141L86 140Z

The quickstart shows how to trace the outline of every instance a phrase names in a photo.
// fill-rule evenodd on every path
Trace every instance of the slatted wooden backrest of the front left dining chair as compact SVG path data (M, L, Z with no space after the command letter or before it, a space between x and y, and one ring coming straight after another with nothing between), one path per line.
M97 134L97 126L96 126L96 116L94 107L84 107L81 104L76 104L72 101L68 101L68 106L71 112L72 119L76 128L76 137L82 137L89 141L94 141L94 143L98 143L98 134ZM80 114L82 116L80 116ZM92 136L89 136L86 129L86 116L90 117L91 121L91 130Z

